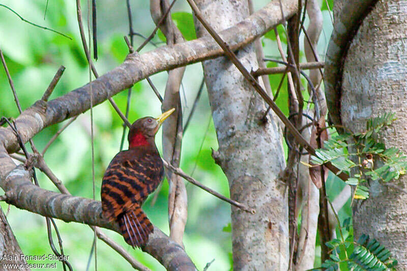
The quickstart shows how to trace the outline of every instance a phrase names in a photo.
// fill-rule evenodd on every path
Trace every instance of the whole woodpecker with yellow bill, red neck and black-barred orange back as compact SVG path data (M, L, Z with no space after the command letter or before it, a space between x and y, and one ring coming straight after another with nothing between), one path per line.
M155 143L155 135L174 108L159 117L137 119L129 130L129 149L119 152L103 176L102 213L117 221L127 244L147 244L154 227L141 209L164 177L164 166Z

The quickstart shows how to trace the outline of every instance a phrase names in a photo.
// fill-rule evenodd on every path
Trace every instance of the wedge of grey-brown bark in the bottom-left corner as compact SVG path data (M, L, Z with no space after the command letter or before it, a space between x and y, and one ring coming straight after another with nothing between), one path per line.
M10 264L26 264L25 259L20 260L20 255L23 254L13 231L10 228L7 218L0 208L0 270L4 270L4 263ZM17 259L2 260L3 257L17 256ZM30 270L30 268L19 268L18 270Z

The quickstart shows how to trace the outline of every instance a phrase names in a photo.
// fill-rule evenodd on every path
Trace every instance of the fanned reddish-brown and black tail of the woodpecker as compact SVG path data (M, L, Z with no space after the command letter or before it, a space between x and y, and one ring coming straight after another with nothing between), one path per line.
M126 213L118 217L118 220L122 235L127 244L133 248L147 244L149 234L154 231L154 228L140 205L133 204Z

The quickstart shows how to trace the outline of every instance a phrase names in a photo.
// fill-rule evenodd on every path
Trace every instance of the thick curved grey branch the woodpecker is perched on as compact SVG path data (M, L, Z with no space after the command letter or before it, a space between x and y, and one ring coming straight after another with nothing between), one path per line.
M2 165L0 186L6 192L7 203L45 217L120 232L117 223L108 222L102 216L102 206L99 201L55 193L33 185L30 173L22 165L13 168L14 162L2 147L0 147L0 165ZM5 168L13 169L3 174ZM194 264L181 246L172 242L157 227L150 236L149 243L142 250L155 257L168 270L195 270Z

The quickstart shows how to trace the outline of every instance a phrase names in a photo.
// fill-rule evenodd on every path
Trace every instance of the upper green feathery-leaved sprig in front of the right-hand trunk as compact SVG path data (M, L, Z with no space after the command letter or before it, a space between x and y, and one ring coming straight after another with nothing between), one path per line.
M325 141L324 148L316 149L311 156L314 165L331 162L350 178L346 184L355 186L353 199L369 197L368 180L387 183L405 174L407 157L396 147L385 147L379 141L381 130L395 120L394 113L368 119L366 130L355 134L343 133Z

